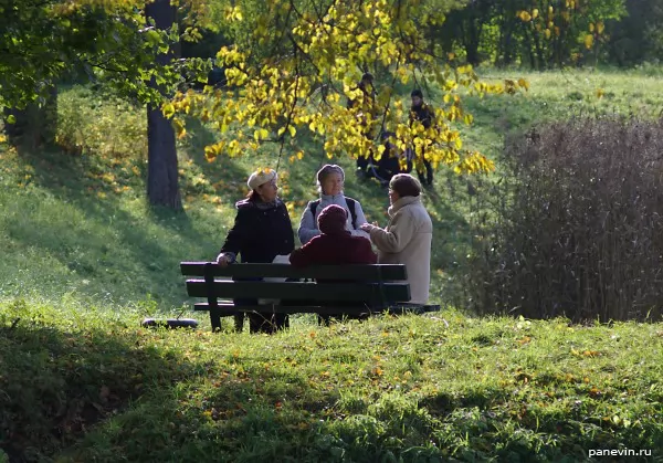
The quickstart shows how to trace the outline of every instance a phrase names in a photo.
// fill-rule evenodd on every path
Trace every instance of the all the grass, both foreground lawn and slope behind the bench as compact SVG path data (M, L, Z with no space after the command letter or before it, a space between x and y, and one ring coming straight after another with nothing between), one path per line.
M507 130L541 118L663 107L661 82L645 75L525 76L526 95L467 102L466 147L497 157ZM403 317L332 329L303 319L270 338L136 329L145 315L188 311L179 261L215 255L244 179L270 161L210 165L200 147L211 135L192 127L180 150L187 214L150 211L141 114L80 88L61 103L62 143L74 152L85 145L85 156L0 148L0 431L13 433L0 434L0 446L10 455L53 455L82 435L65 451L78 461L577 460L600 443L661 446L657 325L569 330L450 312L449 328ZM286 156L284 197L314 197L324 161ZM385 192L352 176L347 183L369 220L385 223ZM486 186L440 172L427 198L435 301L462 302L469 223Z

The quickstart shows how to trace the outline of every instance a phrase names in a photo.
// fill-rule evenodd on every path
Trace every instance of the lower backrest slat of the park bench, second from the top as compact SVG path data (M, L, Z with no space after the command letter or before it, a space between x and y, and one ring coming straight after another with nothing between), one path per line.
M357 301L369 306L385 302L409 301L407 283L299 283L299 282L229 282L215 281L217 297L276 298L294 301ZM187 280L187 292L192 297L207 297L204 280Z

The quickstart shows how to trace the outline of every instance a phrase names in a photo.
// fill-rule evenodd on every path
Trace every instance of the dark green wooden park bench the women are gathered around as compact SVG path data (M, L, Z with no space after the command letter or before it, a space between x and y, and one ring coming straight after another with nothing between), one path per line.
M214 262L181 262L180 267L182 275L194 277L187 280L189 296L207 299L204 303L197 303L194 309L210 313L213 330L221 327L221 317L240 312L263 315L314 313L362 316L386 311L420 313L440 308L401 302L410 299L410 285L406 282L406 266L402 264L319 265L297 269L287 264L220 266ZM259 281L263 277L295 281ZM235 306L232 299L236 298L270 302Z

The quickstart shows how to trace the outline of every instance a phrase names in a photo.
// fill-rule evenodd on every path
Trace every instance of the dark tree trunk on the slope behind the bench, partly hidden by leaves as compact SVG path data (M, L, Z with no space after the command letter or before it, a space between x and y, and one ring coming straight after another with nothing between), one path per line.
M145 14L155 20L158 29L169 29L177 10L170 0L156 0L145 7ZM157 57L159 64L172 60L172 52ZM156 87L155 80L150 83ZM177 149L175 130L159 107L147 107L147 198L152 206L165 206L182 210L178 183Z

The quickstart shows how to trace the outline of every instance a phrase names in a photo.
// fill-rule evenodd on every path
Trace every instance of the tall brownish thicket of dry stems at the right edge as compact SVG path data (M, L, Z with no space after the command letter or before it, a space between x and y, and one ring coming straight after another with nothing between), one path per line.
M471 301L533 318L657 318L663 306L663 122L583 119L507 141L496 220Z

